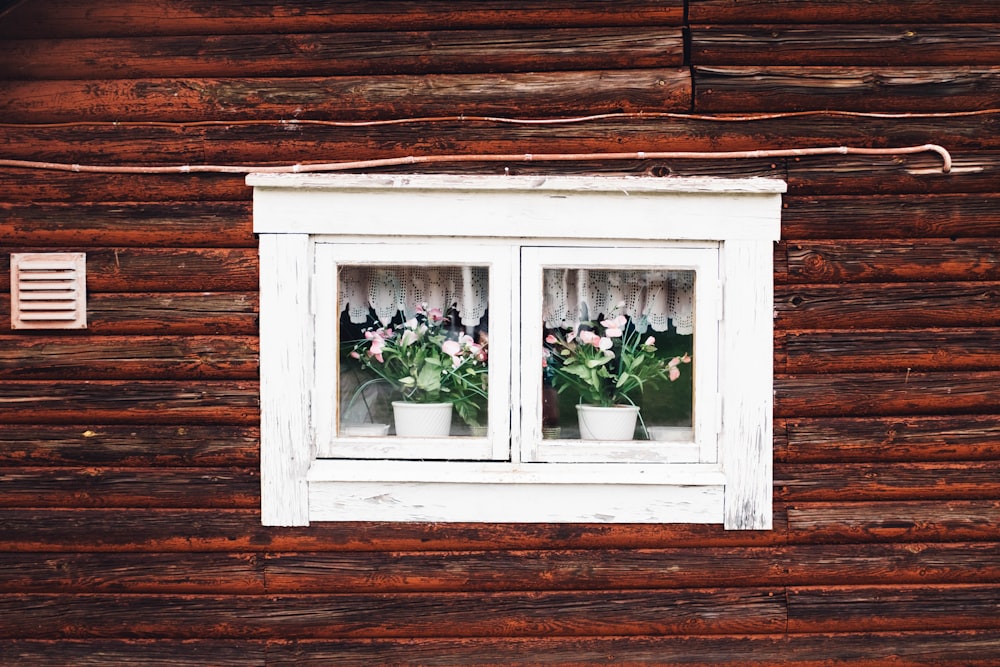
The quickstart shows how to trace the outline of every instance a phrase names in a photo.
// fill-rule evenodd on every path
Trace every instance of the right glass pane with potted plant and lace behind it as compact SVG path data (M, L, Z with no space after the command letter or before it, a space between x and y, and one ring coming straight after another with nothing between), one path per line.
M548 268L543 277L543 436L690 441L695 272Z

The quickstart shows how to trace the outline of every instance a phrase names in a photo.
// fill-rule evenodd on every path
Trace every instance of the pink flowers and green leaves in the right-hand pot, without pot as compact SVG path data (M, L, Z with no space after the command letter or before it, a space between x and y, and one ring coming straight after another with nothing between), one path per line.
M583 403L611 407L635 405L635 394L676 381L681 364L691 363L691 356L657 357L656 338L646 336L645 329L644 319L631 322L612 314L600 322L583 322L576 331L550 333L543 365L551 368L553 386L560 393L573 388Z

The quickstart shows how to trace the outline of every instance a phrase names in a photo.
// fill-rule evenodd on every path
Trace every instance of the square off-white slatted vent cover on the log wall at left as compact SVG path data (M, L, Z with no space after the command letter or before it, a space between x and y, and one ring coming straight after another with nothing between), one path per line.
M11 329L87 327L86 253L14 253L10 291Z

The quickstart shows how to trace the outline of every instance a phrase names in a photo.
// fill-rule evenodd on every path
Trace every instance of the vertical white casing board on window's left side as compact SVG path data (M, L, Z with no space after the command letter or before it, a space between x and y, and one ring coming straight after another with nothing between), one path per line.
M305 235L260 238L260 486L261 520L268 526L309 523L306 473L314 458L309 248Z

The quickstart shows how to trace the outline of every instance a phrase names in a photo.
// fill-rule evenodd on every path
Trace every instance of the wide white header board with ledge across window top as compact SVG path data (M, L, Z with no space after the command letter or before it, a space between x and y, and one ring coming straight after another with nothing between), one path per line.
M467 180L468 179L468 180ZM254 231L645 240L774 238L784 184L650 178L251 175ZM404 212L401 214L401 212Z

